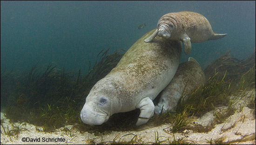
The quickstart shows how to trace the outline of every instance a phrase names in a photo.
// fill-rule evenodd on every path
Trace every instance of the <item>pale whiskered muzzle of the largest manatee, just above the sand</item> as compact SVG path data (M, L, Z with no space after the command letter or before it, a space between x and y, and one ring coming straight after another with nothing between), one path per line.
M105 112L94 112L89 107L83 107L80 113L80 118L83 123L88 125L101 125L108 121L108 114Z

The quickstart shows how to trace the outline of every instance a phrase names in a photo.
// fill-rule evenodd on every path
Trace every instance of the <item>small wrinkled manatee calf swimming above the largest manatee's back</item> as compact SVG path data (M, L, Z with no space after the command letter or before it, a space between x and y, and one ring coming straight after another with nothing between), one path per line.
M157 23L157 30L145 42L151 42L155 36L181 40L184 52L191 53L191 42L198 43L206 40L217 40L227 34L216 34L212 31L209 21L195 12L177 12L163 15Z

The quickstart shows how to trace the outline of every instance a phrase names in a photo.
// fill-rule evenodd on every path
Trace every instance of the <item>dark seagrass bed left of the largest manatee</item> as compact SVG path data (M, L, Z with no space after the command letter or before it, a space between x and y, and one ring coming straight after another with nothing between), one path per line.
M3 106L7 118L11 122L25 121L43 126L44 131L66 124L81 124L80 110L91 87L107 75L123 55L121 50L112 54L108 54L108 50L98 54L100 61L96 59L85 76L81 76L81 70L76 77L74 72L65 72L64 68L51 64L46 67L34 65L21 75L2 72L1 100L6 99Z

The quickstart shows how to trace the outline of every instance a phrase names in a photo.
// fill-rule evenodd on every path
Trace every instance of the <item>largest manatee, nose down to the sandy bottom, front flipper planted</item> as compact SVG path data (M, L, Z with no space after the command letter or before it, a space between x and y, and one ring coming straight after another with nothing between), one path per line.
M140 108L136 125L148 122L154 115L153 99L169 84L178 68L182 53L180 41L164 41L156 37L153 43L142 36L121 58L108 75L89 92L81 110L81 120L89 125L101 125L114 113Z

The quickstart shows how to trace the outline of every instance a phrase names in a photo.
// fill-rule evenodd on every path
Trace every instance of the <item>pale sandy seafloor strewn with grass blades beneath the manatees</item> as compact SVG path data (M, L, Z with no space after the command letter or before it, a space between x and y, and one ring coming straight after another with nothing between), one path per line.
M141 125L137 131L123 131L123 132L107 132L100 135L94 133L81 133L72 128L72 125L66 125L54 132L43 132L42 127L34 126L28 123L9 123L9 119L5 118L4 113L1 112L1 144L110 144L115 138L118 141L135 141L139 144L155 144L157 135L159 140L163 141L161 144L169 144L170 142L181 140L183 143L191 144L256 144L256 120L255 110L244 106L246 105L251 93L255 99L255 89L248 93L248 97L240 100L236 104L236 112L230 115L226 121L221 124L216 124L209 132L195 132L193 130L185 130L183 132L170 133L170 124L160 125L156 127L149 127L149 124ZM202 127L209 127L214 120L215 112L222 112L227 109L227 106L216 108L215 111L206 112L201 118L191 118L193 121L189 125L193 128L195 125ZM7 128L9 131L19 127L20 133L14 136L6 135ZM64 131L68 128L71 132ZM5 131L4 131L5 129ZM129 134L129 135L126 135ZM126 136L124 136L126 135ZM136 137L135 137L136 135ZM123 136L123 137L122 137ZM23 141L23 139L27 141ZM52 139L51 141L49 139ZM165 141L164 141L165 140Z

